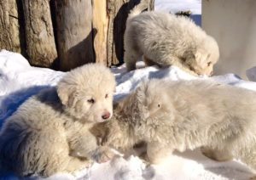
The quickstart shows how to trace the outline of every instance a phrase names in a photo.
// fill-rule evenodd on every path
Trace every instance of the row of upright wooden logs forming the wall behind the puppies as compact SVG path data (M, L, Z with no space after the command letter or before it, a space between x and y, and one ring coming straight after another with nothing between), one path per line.
M154 0L141 1L154 8ZM126 20L138 3L140 0L2 0L0 48L21 52L31 65L55 70L71 70L90 62L119 65L124 61Z

